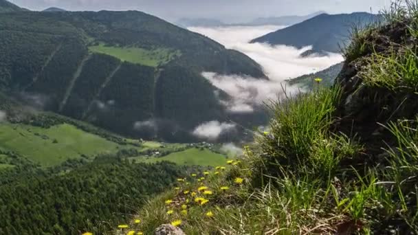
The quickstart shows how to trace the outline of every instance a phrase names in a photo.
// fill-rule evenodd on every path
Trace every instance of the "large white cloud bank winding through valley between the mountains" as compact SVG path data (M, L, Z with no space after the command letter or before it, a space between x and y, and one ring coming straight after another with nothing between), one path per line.
M297 87L289 87L285 80L296 78L315 71L326 69L331 65L340 63L343 58L340 54L328 54L328 56L300 56L303 52L311 49L305 47L296 49L287 45L267 45L264 43L248 43L253 38L262 36L280 27L273 25L265 26L228 26L228 27L190 27L189 30L199 32L230 49L236 49L250 56L259 63L270 80L243 76L225 76L204 72L215 87L225 91L232 100L221 100L227 109L235 113L252 112L254 104L259 105L268 100L277 100L283 97L284 89L290 93L299 92Z

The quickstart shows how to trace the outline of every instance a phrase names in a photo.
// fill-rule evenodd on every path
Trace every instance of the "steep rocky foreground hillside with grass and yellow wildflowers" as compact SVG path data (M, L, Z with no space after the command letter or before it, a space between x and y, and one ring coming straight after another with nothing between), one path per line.
M353 34L332 87L271 104L270 131L243 159L183 175L128 230L418 234L418 12L408 3Z

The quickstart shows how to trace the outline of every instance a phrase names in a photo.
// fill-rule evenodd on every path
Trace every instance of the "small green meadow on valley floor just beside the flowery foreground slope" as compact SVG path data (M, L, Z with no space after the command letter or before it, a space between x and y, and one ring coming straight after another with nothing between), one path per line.
M189 148L177 153L171 153L165 157L137 157L137 161L156 163L159 161L171 161L175 164L186 166L225 166L227 159L218 153L208 149Z

